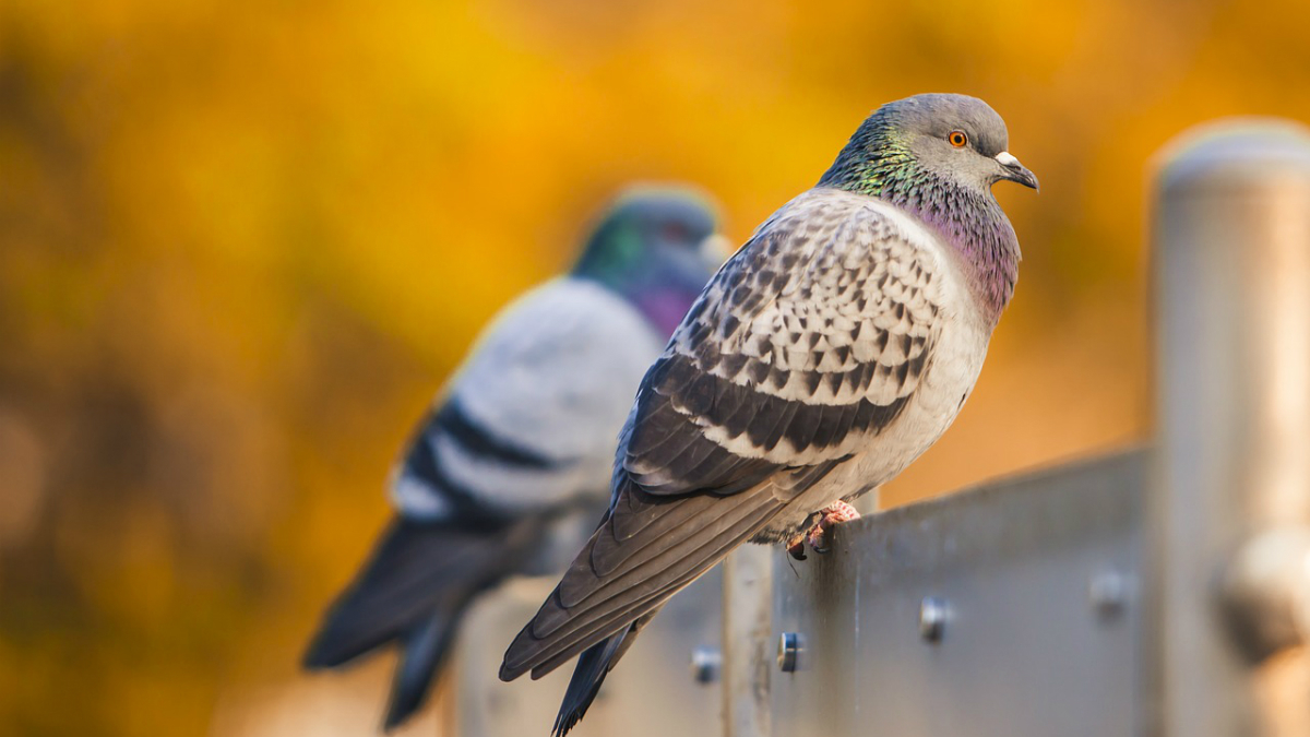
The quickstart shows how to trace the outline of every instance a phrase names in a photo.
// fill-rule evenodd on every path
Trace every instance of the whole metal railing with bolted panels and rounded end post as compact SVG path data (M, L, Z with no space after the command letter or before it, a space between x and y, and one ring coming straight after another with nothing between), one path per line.
M1310 734L1310 132L1199 129L1153 188L1150 448L747 546L574 734ZM567 669L495 664L553 582L470 616L458 734L546 732Z

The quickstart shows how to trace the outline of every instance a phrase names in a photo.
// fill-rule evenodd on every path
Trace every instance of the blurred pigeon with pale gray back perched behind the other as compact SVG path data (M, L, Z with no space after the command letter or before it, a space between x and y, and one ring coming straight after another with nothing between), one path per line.
M727 257L717 220L694 190L631 189L566 275L490 324L394 468L396 515L305 667L396 641L392 729L423 704L474 597L565 568L605 513L642 374Z

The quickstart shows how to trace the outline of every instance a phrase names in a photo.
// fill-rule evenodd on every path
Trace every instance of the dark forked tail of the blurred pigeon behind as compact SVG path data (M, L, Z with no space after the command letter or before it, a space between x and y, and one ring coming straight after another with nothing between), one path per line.
M519 570L545 528L541 518L495 530L397 518L324 616L304 666L338 667L397 641L385 727L400 725L427 699L469 603Z

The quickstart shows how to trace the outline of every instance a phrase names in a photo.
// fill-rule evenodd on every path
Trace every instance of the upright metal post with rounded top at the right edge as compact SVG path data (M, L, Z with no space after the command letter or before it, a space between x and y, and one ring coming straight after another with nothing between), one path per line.
M1184 134L1162 156L1155 193L1144 732L1303 737L1310 131L1233 121Z

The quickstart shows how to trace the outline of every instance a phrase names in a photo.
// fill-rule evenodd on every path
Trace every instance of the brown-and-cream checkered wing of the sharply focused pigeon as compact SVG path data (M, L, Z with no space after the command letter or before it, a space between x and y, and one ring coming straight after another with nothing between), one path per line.
M945 298L912 228L817 190L724 265L642 382L609 514L502 678L549 673L658 607L895 424Z

